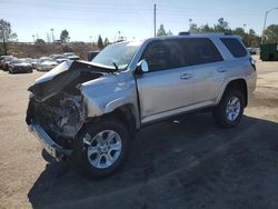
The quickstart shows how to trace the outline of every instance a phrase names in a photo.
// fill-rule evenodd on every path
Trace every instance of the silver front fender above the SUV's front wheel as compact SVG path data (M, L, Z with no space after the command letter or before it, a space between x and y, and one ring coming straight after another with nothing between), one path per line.
M87 118L100 117L126 104L132 106L137 127L139 127L139 108L136 84L132 79L119 82L117 79L100 78L83 83L81 87Z

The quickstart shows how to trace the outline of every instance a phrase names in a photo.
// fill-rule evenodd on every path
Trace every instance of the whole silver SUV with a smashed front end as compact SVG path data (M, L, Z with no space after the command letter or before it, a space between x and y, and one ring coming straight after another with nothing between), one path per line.
M122 165L145 125L210 109L219 126L236 126L256 77L239 37L120 42L91 62L66 61L36 80L26 120L50 156L102 178Z

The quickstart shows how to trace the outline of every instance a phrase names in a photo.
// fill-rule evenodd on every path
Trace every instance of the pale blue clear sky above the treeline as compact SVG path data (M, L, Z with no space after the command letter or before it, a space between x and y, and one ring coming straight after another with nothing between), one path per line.
M173 34L187 31L189 19L198 26L214 26L225 18L231 29L246 24L261 34L266 11L278 8L278 0L0 0L0 19L11 23L18 41L47 40L53 29L71 41L97 41L98 36L115 41L120 36L145 39L153 36L153 4L157 4L157 28ZM278 9L268 13L267 26L278 24ZM91 38L90 38L91 37Z

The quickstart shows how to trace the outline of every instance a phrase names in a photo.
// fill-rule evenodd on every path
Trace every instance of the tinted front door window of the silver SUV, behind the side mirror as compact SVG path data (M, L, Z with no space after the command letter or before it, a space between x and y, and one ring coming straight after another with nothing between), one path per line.
M175 40L151 42L141 59L146 59L151 72L186 66L182 49Z

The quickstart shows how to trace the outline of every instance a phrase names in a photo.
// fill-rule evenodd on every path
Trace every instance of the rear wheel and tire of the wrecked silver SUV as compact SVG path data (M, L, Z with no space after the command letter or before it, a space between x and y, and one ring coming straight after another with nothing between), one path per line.
M232 104L234 103L234 104ZM216 123L222 128L237 126L244 115L245 98L240 90L228 90L212 110Z

